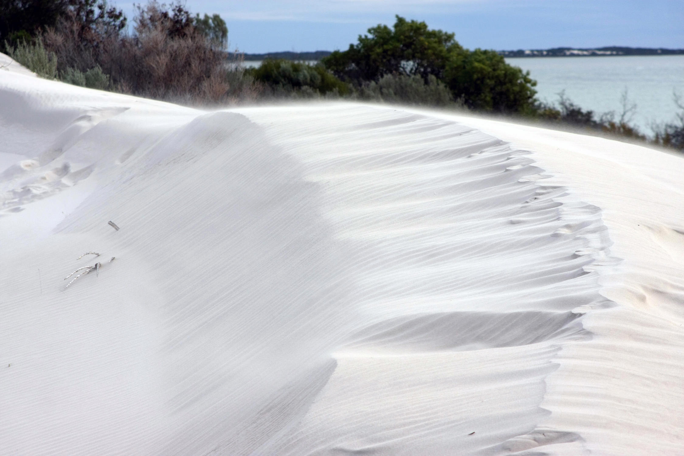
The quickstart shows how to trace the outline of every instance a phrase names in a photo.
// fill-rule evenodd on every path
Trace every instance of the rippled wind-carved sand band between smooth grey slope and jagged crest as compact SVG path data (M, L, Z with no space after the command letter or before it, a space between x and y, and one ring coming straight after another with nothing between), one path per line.
M338 235L363 252L359 329L271 452L581 454L581 435L538 426L557 351L591 337L584 312L611 306L596 283L616 263L599 208L544 185L526 152L454 122L348 106L243 112L301 157Z

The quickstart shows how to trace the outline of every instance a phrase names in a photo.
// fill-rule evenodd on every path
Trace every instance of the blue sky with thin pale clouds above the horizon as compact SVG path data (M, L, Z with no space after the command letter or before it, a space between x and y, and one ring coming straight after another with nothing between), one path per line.
M143 2L141 2L143 3ZM119 2L124 10L131 5ZM394 15L456 33L473 49L557 46L684 48L684 0L186 0L218 13L231 49L246 53L346 49Z

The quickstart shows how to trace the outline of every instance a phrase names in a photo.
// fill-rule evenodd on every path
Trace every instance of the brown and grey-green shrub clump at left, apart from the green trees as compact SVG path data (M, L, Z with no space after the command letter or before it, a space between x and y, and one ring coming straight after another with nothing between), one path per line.
M150 1L137 5L129 33L123 12L104 0L60 1L42 0L56 17L31 25L30 33L1 30L8 37L29 36L16 45L5 40L5 49L39 75L191 104L254 99L259 93L239 62L226 58L228 28L218 14L192 16L181 3ZM0 8L0 17L5 13Z

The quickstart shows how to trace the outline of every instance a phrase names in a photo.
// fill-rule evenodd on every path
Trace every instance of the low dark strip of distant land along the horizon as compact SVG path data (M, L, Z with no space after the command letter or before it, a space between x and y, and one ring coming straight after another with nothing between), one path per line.
M591 49L560 47L553 49L518 49L517 51L497 51L503 57L606 57L612 55L684 55L684 49L633 48L608 46ZM280 51L263 54L243 54L246 61L255 62L265 59L320 60L332 51L292 52Z

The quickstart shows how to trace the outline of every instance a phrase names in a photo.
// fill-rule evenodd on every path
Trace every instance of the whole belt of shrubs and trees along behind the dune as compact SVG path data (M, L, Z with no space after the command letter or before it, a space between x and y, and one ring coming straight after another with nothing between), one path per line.
M622 112L596 114L564 94L536 99L536 81L495 51L464 49L453 33L396 16L320 64L265 59L244 70L231 59L228 27L218 15L191 14L181 3L137 5L131 31L105 0L4 0L0 46L49 79L98 90L187 104L274 98L351 98L471 109L539 120L556 128L646 140ZM684 103L676 120L653 127L652 141L684 150Z

